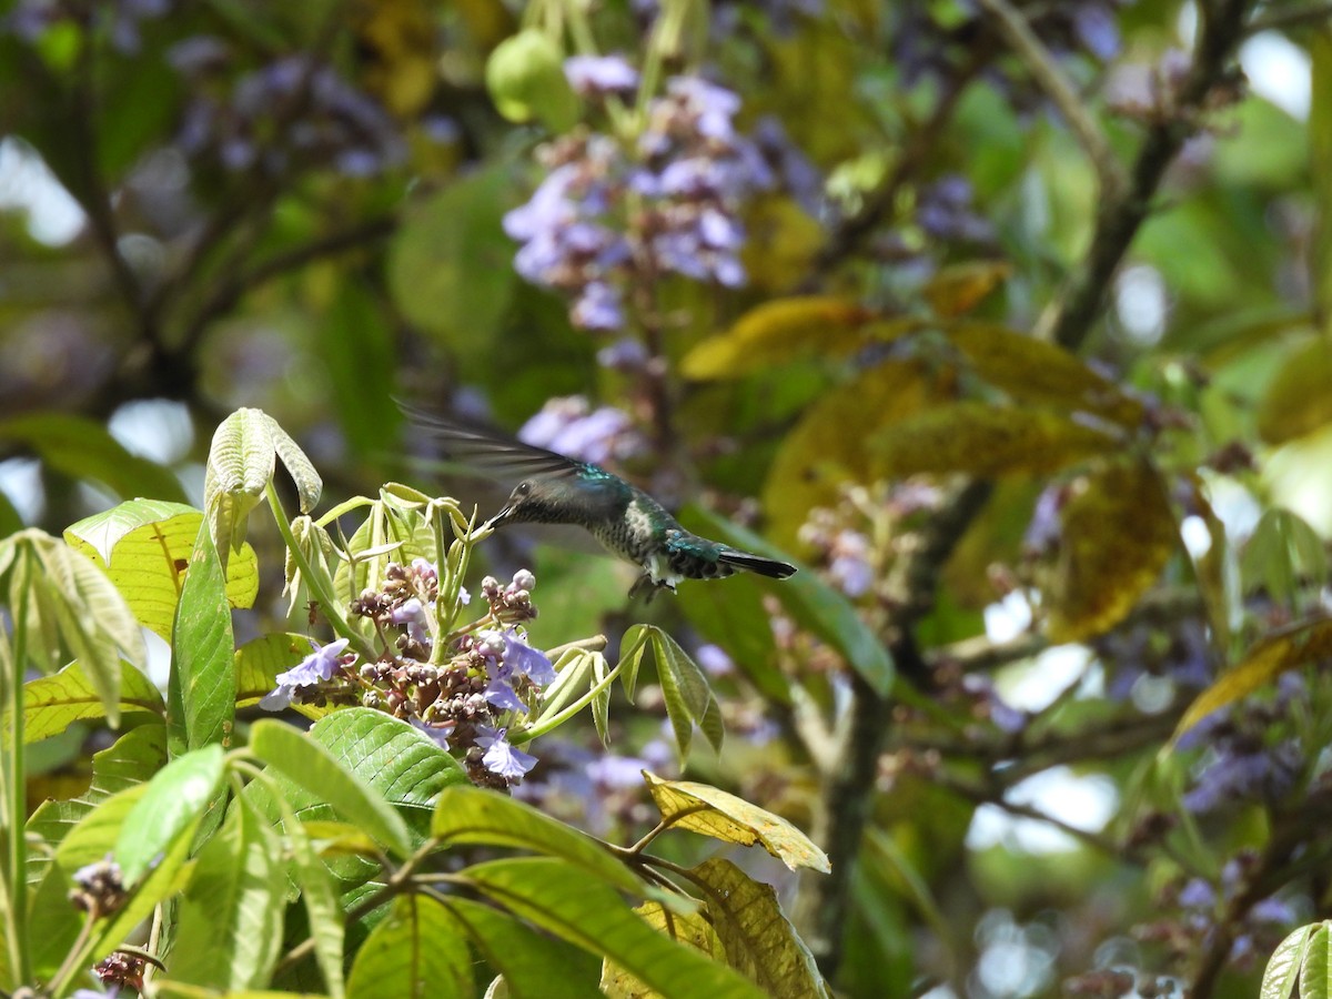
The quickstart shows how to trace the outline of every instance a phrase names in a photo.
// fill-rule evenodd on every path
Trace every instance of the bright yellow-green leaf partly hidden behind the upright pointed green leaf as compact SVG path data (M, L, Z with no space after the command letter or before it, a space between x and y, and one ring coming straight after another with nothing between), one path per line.
M170 641L182 577L204 514L184 503L132 500L65 529L65 541L101 566L144 627ZM258 559L242 545L226 563L226 601L249 607Z

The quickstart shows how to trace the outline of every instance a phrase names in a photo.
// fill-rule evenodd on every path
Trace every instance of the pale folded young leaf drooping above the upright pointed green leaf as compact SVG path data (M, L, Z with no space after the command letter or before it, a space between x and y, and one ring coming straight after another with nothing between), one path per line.
M222 565L240 551L249 513L273 478L274 425L261 409L237 409L213 432L204 468L204 515Z

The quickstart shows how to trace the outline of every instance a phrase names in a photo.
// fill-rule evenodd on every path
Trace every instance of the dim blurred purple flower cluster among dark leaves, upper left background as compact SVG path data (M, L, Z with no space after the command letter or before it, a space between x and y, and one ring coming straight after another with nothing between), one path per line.
M208 36L186 39L169 59L205 95L186 109L180 144L228 170L276 176L332 163L340 173L365 177L406 153L378 101L308 56L285 56L246 73L226 96L210 95L206 85L229 61L225 44Z

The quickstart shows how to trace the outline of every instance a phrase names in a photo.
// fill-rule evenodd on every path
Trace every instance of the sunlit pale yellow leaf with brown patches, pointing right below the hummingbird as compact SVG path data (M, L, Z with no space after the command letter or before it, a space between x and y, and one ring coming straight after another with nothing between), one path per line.
M793 871L799 867L825 874L832 870L827 854L814 846L801 830L743 798L694 781L663 781L646 770L643 779L662 818L677 829L687 829L725 843L762 843L765 850Z

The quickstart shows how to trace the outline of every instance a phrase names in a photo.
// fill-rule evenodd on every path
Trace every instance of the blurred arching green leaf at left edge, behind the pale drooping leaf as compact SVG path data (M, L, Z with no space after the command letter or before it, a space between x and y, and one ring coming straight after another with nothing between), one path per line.
M136 496L185 500L174 474L131 454L105 426L87 417L45 412L0 420L0 442L31 448L57 472L100 482L123 500Z

